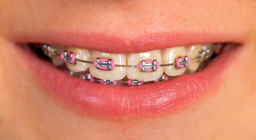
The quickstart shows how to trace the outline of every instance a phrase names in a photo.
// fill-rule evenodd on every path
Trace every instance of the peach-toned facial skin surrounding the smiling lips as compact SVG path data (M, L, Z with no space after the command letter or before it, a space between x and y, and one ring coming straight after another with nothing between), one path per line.
M255 0L0 0L0 139L255 139L255 13ZM60 30L104 32L126 43L154 32L220 33L241 47L216 77L218 88L199 102L161 115L102 118L53 100L11 53L21 53L12 43L43 43L40 34Z

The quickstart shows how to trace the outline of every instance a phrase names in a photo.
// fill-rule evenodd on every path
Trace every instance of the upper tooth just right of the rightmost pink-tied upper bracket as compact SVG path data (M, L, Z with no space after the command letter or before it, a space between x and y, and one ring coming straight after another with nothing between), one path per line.
M202 51L202 45L191 45L187 49L187 55L190 60L197 58L197 53ZM188 69L196 71L200 65L200 61L191 61L188 65Z

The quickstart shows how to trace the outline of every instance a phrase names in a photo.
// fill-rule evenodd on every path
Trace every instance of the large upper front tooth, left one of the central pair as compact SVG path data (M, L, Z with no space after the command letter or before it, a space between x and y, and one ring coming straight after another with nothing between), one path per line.
M99 51L92 51L92 57L90 61L94 61L97 58L112 59L115 64L126 65L125 54L110 54L102 53ZM126 75L126 67L115 67L112 71L97 69L93 64L89 65L90 74L93 77L104 79L104 80L120 80Z

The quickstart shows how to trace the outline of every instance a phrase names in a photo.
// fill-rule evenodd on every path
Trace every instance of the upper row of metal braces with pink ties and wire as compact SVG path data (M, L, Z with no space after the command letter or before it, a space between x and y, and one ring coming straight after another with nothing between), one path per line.
M54 46L44 44L45 55L52 57L60 56L60 59L65 63L76 65L76 62L83 62L93 64L94 67L100 70L112 71L115 67L138 67L140 72L155 72L159 67L175 66L176 69L188 67L191 61L203 62L207 60L211 55L212 51L207 47L202 47L202 51L197 53L197 58L190 60L188 56L181 56L175 59L175 63L170 64L159 64L157 60L142 60L139 65L119 65L115 64L114 60L107 58L97 58L94 61L76 59L76 54L73 52L64 51L63 53L57 53Z

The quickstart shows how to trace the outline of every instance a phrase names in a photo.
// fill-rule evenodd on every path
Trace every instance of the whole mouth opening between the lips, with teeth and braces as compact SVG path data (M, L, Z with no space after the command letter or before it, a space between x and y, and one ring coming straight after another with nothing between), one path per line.
M172 47L144 53L110 54L93 50L29 44L61 71L86 81L115 86L140 86L200 72L225 43Z

